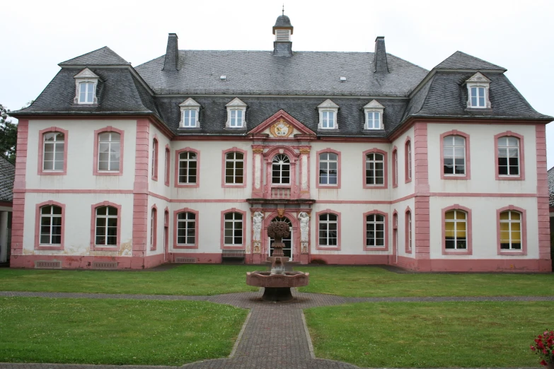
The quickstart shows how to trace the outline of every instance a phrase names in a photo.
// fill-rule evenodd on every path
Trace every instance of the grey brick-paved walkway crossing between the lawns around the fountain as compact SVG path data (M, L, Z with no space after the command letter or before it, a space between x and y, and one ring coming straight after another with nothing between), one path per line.
M239 334L229 358L200 361L183 365L184 369L348 369L355 365L315 358L311 339L304 320L303 309L344 303L380 302L437 302L446 301L554 301L554 296L515 297L425 297L425 298L345 298L318 293L293 291L294 300L287 303L269 303L260 298L262 291L229 293L214 296L180 295L115 295L105 293L43 293L0 292L0 297L42 298L121 298L133 300L200 300L250 309L250 314ZM175 367L137 365L71 365L0 363L1 369L165 369Z

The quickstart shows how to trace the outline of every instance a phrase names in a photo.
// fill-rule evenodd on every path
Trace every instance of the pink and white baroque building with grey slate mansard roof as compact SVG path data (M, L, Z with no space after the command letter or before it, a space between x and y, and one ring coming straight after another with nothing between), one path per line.
M260 263L551 271L545 126L500 66L178 49L64 61L19 119L11 266Z

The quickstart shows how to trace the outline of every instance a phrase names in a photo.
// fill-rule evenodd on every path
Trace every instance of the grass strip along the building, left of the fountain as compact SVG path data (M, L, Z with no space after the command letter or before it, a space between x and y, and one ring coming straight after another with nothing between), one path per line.
M166 271L0 269L0 291L217 295L258 291L246 265L181 265Z

